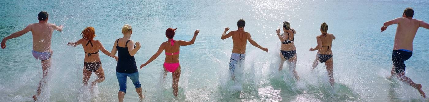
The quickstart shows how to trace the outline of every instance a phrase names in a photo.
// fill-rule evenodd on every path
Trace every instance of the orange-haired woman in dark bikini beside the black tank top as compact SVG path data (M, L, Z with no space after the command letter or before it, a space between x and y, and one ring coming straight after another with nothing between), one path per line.
M82 31L82 39L79 39L77 42L69 42L69 46L76 47L77 45L82 45L83 50L85 51L85 60L84 60L84 70L83 70L83 84L88 85L88 80L91 77L92 72L98 76L97 80L91 83L91 90L94 87L94 84L104 81L104 72L101 67L100 57L98 51L101 50L107 56L113 57L118 60L118 57L111 56L110 52L103 47L100 41L94 40L95 30L94 27L86 27Z

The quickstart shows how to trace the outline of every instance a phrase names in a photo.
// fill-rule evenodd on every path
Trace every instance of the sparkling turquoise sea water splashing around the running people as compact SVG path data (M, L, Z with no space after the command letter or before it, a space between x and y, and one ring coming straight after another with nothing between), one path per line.
M49 13L49 22L65 26L63 32L55 32L52 38L51 78L42 101L117 101L116 61L100 55L106 80L97 85L96 94L86 94L81 87L85 54L82 47L73 48L66 43L77 41L80 32L92 26L96 39L110 51L115 39L122 37L124 24L133 26L131 39L142 43L135 56L138 64L148 60L160 43L167 40L166 28L178 27L175 39L181 40L190 40L194 30L201 30L194 45L181 47L178 98L172 96L171 73L165 80L161 77L165 55L139 69L146 101L428 101L412 87L385 78L392 67L396 25L379 33L385 21L400 17L406 7L414 8L414 18L429 22L426 0L3 0L0 6L3 8L0 38L36 23L37 13L42 10ZM237 84L227 80L232 40L220 37L225 27L236 30L236 21L241 18L246 20L245 30L256 42L269 48L269 53L248 44L246 66ZM295 44L299 82L287 70L277 72L280 42L275 30L283 21L290 21L298 32ZM332 44L336 82L333 88L329 87L323 64L311 71L316 51L308 49L316 46L314 37L320 34L323 22L337 38ZM413 57L406 62L407 76L422 84L426 93L429 93L428 33L424 28L417 32ZM36 93L42 71L39 60L31 55L31 40L31 33L27 33L8 40L8 48L0 50L0 100L26 102ZM94 80L95 75L90 81ZM129 82L127 86L125 101L138 100L133 85Z

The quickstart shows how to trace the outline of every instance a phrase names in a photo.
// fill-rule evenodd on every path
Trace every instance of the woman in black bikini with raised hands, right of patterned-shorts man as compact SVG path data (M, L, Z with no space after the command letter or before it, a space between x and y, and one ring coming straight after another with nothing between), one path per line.
M295 34L296 31L292 28L290 28L290 23L285 21L283 22L283 31L280 35L280 28L278 28L277 36L278 39L281 41L281 48L280 48L280 67L279 71L283 69L283 64L286 60L289 61L289 68L292 69L293 75L295 75L296 80L299 80L298 72L296 72L296 47L295 47ZM287 35L286 35L287 33Z

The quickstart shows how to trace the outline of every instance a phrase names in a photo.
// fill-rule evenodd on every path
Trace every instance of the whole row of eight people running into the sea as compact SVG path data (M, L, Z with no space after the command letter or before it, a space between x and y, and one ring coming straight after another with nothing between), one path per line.
M412 42L414 40L414 36L417 33L417 29L419 27L429 29L429 24L421 20L413 19L413 15L414 10L412 8L405 9L402 17L384 23L383 27L381 27L381 32L386 30L387 26L389 25L398 24L394 42L395 44L393 46L392 52L393 68L391 77L396 76L399 80L411 85L411 87L416 88L419 93L426 98L426 95L422 90L422 85L414 83L410 78L406 77L404 73L404 62L412 55ZM40 95L43 84L46 83L46 77L51 66L50 58L53 54L53 51L51 50L51 36L53 30L62 31L63 29L63 26L57 26L55 24L48 23L48 16L49 15L47 12L39 12L39 23L29 24L24 28L24 30L5 37L1 42L1 48L4 49L6 48L6 41L8 39L22 36L30 31L32 32L33 57L41 60L43 73L42 80L39 82L37 88L37 93L33 96L34 100L37 100L37 96ZM235 69L242 66L245 60L247 42L250 42L251 45L268 52L268 48L258 45L257 42L251 38L251 34L244 30L245 21L243 19L237 21L237 27L238 30L230 31L229 33L227 33L227 31L230 28L225 28L224 33L221 36L221 39L227 39L229 37L232 37L233 39L233 50L229 63L229 72L232 80L235 80ZM147 66L149 63L155 60L163 51L165 51L166 57L163 63L163 78L166 77L167 72L172 72L172 88L174 96L178 96L178 81L181 74L181 67L178 58L180 46L194 44L196 36L199 33L199 30L196 30L194 32L193 38L190 41L174 40L173 38L175 36L176 30L177 28L168 28L165 33L168 40L162 42L157 52L146 63L143 63L140 66L140 69L142 69L144 66ZM310 51L318 50L312 69L314 69L318 63L325 63L329 76L329 82L331 86L333 86L335 80L333 78L332 40L335 39L335 36L333 34L327 33L327 31L328 24L321 24L320 35L316 37L317 46L310 48ZM296 30L291 28L289 22L285 21L283 23L283 32L284 33L280 34L280 28L276 30L278 39L281 41L279 54L281 57L281 63L278 70L281 71L283 69L283 64L287 60L290 62L289 68L292 69L293 75L295 76L296 80L299 81L298 73L295 70L297 60L296 47L294 45ZM99 57L99 51L101 51L103 54L115 58L115 60L118 61L116 66L116 77L118 78L119 83L119 102L123 101L126 93L127 77L129 77L133 82L140 101L142 101L145 96L142 94L142 88L139 82L139 72L137 69L136 60L134 58L134 55L137 53L137 51L139 51L141 45L139 42L134 42L131 40L131 35L133 34L132 27L128 24L125 24L122 27L123 37L115 40L112 51L110 52L103 47L100 41L94 39L96 36L94 27L86 27L81 34L82 39L79 39L77 42L69 42L68 45L75 47L77 45L82 45L84 49L85 59L82 79L83 84L88 86L88 80L93 72L97 75L98 78L91 82L91 90L96 83L104 81L104 72ZM118 53L118 56L116 56L116 53Z

